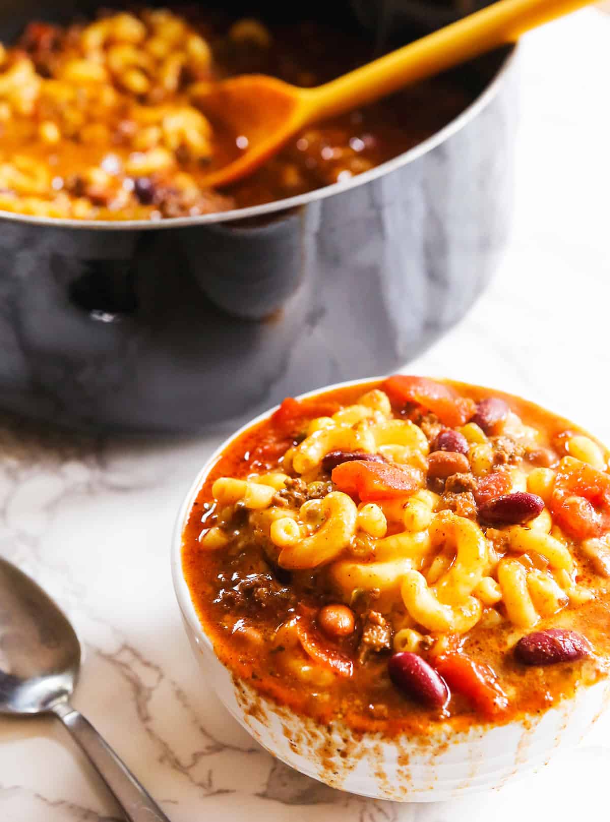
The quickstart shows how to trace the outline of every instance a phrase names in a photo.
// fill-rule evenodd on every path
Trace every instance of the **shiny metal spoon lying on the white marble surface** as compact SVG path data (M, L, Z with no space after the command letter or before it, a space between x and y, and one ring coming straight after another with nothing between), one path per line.
M167 816L85 717L72 708L81 643L43 589L0 559L0 713L54 713L113 793L128 822Z

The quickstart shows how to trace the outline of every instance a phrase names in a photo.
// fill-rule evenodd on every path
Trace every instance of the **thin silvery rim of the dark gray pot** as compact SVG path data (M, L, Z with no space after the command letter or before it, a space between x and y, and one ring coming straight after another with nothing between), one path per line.
M480 113L491 100L497 95L501 84L504 82L506 73L511 69L515 63L515 58L520 52L520 42L513 44L506 44L510 46L509 52L502 60L500 67L492 76L492 79L485 86L483 91L474 98L474 100L463 109L457 117L448 122L446 126L439 129L439 131L429 136L418 145L402 154L393 157L375 166L362 174L357 174L355 177L349 179L347 182L335 182L330 186L323 186L316 188L312 192L299 194L298 196L286 197L283 200L275 200L270 203L263 203L262 205L251 205L247 208L233 209L230 211L220 211L214 214L189 216L189 217L166 217L164 219L125 219L125 220L110 220L110 219L73 219L73 218L58 218L58 217L41 217L35 215L24 215L19 212L2 211L0 210L0 220L6 220L11 223L25 223L30 225L47 226L49 228L62 229L81 229L94 231L131 231L136 229L138 231L155 231L159 229L179 229L189 228L196 225L214 225L225 222L238 222L242 219L260 217L263 215L271 215L275 212L287 211L297 208L300 205L307 205L310 202L326 199L326 197L334 196L343 192L348 192L352 188L364 186L367 182L372 182L377 178L383 177L385 174L391 173L402 166L414 162L419 157L427 154L428 151L436 148L442 142L445 142L449 137L459 132L471 120L473 120L478 113Z

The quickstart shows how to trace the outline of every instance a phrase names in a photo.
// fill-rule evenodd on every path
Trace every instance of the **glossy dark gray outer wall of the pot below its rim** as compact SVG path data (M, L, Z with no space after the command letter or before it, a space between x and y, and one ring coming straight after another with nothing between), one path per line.
M409 362L506 245L515 75L512 58L440 145L290 210L148 230L0 218L0 406L63 427L223 430Z

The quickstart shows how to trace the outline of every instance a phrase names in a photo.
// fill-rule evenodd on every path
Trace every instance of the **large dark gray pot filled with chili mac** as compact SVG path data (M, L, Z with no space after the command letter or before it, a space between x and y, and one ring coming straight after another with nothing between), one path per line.
M216 81L317 85L421 21L381 38L354 0L297 17L261 0L255 18L239 0L77 5L0 0L0 406L234 428L297 388L398 367L464 316L510 224L515 46L212 190L210 167L247 140L206 116Z

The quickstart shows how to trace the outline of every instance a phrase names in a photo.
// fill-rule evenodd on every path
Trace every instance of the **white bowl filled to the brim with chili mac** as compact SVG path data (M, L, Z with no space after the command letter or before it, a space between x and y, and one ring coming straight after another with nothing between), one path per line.
M608 701L608 450L501 391L396 375L284 399L210 457L172 561L220 700L332 787L498 787Z

